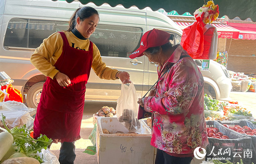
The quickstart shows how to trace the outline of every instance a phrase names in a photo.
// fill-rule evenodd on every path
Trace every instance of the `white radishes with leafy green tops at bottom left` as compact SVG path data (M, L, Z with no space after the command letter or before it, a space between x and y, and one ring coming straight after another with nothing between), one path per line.
M42 134L37 139L32 138L26 125L9 129L5 124L3 114L2 122L5 129L0 127L0 130L4 131L0 133L1 162L10 158L32 157L43 163L42 158L37 156L36 153L40 153L42 149L46 150L47 146L52 143L52 139Z

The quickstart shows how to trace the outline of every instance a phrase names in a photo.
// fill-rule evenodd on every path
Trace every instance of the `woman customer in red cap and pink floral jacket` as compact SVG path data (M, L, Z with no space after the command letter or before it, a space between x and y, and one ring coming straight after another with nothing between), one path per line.
M148 97L139 99L152 114L151 145L157 148L156 164L189 164L196 147L208 144L204 119L204 79L195 61L173 34L153 29L146 32L140 47L130 55L155 62L159 81Z

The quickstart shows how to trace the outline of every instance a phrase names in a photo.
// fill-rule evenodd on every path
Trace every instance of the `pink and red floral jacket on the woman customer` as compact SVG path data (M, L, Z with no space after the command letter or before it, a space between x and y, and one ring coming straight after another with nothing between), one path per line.
M170 153L191 154L196 147L208 145L204 118L204 79L196 62L181 45L163 67L156 95L144 98L144 110L153 113L151 145Z

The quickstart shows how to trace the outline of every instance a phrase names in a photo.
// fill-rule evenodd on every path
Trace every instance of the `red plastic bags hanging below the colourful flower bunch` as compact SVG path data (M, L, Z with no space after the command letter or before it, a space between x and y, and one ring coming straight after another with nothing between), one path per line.
M197 18L196 22L183 29L180 44L193 59L216 59L217 42L216 27Z

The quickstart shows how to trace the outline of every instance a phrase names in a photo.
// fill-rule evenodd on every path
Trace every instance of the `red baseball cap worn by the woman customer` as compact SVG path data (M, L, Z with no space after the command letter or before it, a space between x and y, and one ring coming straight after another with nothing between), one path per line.
M143 52L150 47L163 46L170 40L170 34L162 30L149 30L142 36L140 40L140 47L134 51L129 57L134 59L143 56Z

